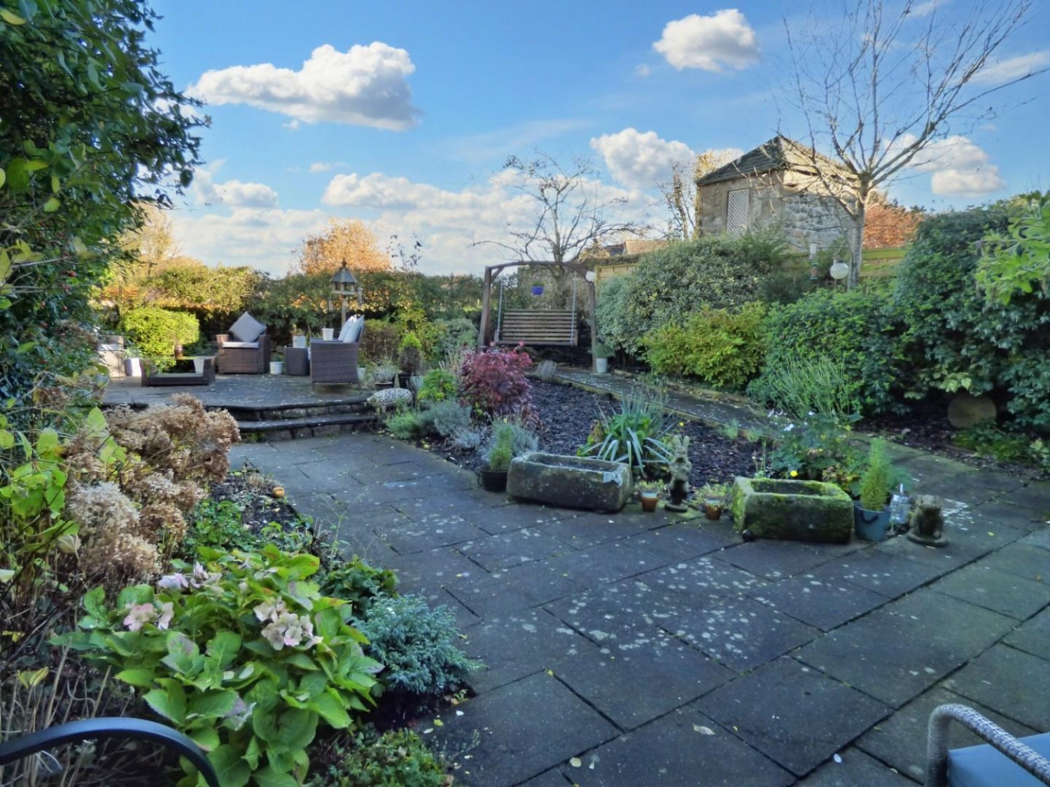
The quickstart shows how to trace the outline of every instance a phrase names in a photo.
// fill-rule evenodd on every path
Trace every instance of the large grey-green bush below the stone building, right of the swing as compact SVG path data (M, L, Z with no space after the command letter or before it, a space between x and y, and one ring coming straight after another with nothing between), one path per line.
M606 343L639 356L645 337L698 309L736 310L759 300L768 274L784 260L772 232L705 235L644 254L634 270L603 283L596 312ZM623 281L621 281L623 279Z

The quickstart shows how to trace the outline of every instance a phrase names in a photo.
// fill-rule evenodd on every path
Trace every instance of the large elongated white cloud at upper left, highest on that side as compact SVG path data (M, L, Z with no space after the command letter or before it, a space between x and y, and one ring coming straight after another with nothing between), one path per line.
M345 123L402 130L414 126L408 52L380 41L342 52L318 46L293 71L271 63L206 71L188 92L209 104L248 104L304 123Z

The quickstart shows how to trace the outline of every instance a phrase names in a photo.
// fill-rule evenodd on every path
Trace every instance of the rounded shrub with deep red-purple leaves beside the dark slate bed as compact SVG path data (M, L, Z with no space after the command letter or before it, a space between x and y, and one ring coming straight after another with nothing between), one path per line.
M460 398L464 404L491 418L533 420L532 386L525 377L532 359L523 347L519 344L503 349L492 345L464 355L460 366Z

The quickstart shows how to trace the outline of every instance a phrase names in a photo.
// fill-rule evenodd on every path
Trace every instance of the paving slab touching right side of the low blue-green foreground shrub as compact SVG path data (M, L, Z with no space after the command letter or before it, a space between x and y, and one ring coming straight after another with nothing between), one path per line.
M580 661L597 647L546 610L532 609L472 626L463 650L486 664L468 681L481 693L545 669L560 671L562 662Z

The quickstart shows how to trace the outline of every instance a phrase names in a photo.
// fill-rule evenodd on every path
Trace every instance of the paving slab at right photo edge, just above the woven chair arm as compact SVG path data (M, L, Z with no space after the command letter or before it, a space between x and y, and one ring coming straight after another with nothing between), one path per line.
M1050 662L1030 653L996 644L944 685L1033 729L1050 730Z

